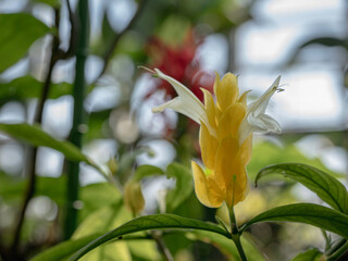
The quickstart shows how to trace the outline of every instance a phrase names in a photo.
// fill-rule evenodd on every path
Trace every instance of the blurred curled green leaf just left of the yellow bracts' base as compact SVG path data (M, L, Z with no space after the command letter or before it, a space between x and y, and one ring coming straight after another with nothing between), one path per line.
M165 198L166 211L172 212L192 192L192 175L186 166L172 163L166 169L166 176L176 179L174 189L169 190Z

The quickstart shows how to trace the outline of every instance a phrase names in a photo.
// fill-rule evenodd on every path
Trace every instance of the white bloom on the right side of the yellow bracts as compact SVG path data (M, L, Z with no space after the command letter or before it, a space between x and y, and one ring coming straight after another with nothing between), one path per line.
M281 134L282 129L277 121L265 114L272 96L275 91L283 90L278 88L279 80L281 76L274 80L272 86L256 102L248 107L247 115L239 127L239 144L243 144L252 132Z

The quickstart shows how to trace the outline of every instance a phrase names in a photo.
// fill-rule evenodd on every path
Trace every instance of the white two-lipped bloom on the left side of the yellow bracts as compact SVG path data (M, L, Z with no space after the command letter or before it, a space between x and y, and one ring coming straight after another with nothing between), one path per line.
M216 136L215 130L209 124L204 105L200 102L200 100L187 87L182 85L176 79L163 74L158 69L156 69L154 71L157 73L157 76L169 82L174 87L178 96L173 100L165 102L164 104L152 108L152 112L162 112L164 109L172 109L192 119L198 124L203 122L209 132L213 136Z

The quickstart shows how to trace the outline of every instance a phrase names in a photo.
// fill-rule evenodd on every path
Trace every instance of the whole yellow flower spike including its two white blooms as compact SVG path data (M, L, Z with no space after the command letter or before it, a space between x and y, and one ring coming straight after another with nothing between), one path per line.
M202 89L204 105L184 85L159 70L156 76L167 80L177 97L152 112L172 109L200 124L199 144L204 170L191 162L195 190L201 203L219 208L224 201L228 207L243 201L249 190L246 165L251 159L252 132L281 133L279 124L265 114L268 103L278 88L281 77L256 102L247 107L248 91L239 95L237 77L227 73L222 79L216 74L214 101Z

